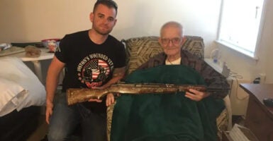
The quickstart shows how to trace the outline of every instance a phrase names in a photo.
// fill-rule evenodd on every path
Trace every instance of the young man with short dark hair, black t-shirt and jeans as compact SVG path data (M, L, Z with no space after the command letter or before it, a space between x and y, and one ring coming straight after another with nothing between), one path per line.
M65 35L56 49L46 80L48 140L69 140L69 135L79 124L82 126L82 140L106 140L105 101L90 99L89 102L67 106L65 92L68 88L104 89L123 78L125 49L121 42L109 35L116 25L116 15L114 1L96 1L90 13L91 30ZM55 97L63 68L62 94Z

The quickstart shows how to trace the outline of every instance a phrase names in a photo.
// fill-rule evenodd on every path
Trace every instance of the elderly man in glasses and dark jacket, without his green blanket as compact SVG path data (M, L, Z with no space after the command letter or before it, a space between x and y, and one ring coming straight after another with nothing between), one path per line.
M139 69L164 64L189 66L200 73L208 87L219 87L225 91L208 93L189 90L189 92L186 92L185 97L194 101L200 101L210 95L216 98L224 98L228 94L229 87L225 77L211 68L204 60L197 58L188 51L182 50L183 39L183 27L181 24L174 21L165 23L160 30L160 38L158 39L164 53L150 59L150 61L140 66Z

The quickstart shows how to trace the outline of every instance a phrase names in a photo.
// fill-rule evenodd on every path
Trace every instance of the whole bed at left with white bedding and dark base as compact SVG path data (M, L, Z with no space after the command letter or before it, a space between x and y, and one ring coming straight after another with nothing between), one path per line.
M0 58L0 140L27 140L38 127L45 87L21 59Z

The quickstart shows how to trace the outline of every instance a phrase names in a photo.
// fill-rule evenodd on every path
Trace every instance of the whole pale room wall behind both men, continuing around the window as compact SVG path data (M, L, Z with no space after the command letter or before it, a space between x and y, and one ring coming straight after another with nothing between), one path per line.
M64 37L65 34L91 27L89 13L95 0L0 0L0 42L39 42L41 39ZM186 35L204 38L205 56L217 45L220 0L116 0L118 23L111 35L118 39L159 35L160 27L176 20L185 27ZM222 60L233 71L252 79L266 73L273 82L272 63L272 1L268 0L264 22L260 60L253 61L230 49L223 49ZM271 74L270 74L271 73Z

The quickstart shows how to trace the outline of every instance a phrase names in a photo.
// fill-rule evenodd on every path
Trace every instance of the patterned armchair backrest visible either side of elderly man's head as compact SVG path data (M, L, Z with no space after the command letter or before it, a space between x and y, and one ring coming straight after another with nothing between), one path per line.
M158 42L158 37L133 37L123 39L126 44L127 54L127 72L130 74L135 71L140 65L148 61L151 57L163 51ZM203 38L196 36L185 36L183 47L184 50L191 52L201 59L204 59L204 42Z

